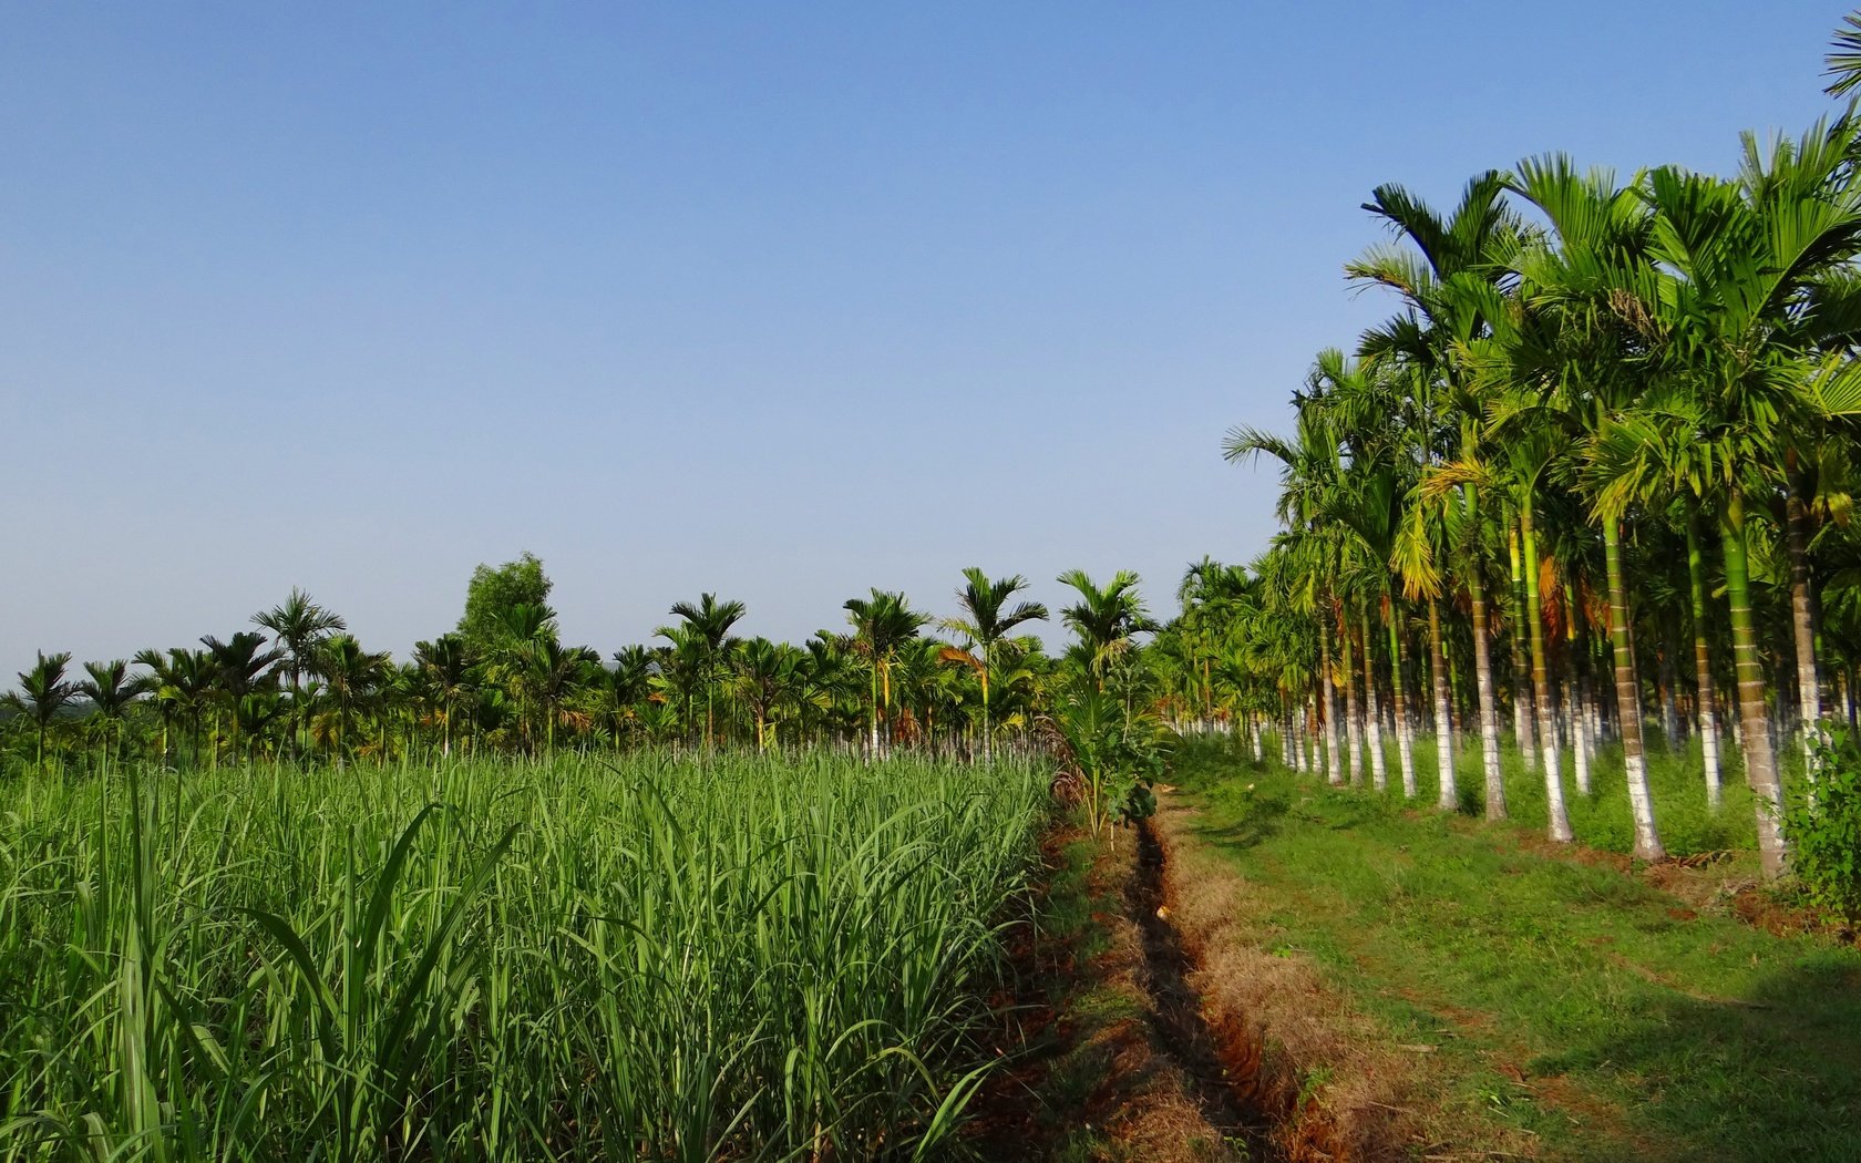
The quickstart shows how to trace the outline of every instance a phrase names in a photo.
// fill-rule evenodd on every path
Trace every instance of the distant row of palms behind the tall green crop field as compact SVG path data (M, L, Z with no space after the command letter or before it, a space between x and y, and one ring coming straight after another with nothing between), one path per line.
M1120 661L1135 659L1133 638L1154 629L1137 577L1098 586L1070 571L1061 581L1078 601L1059 612L1076 636L1059 655L1025 633L1050 612L1020 599L1024 577L966 569L951 618L873 590L845 603L845 631L795 646L737 636L744 603L703 594L672 607L655 644L607 661L564 644L547 605L514 601L396 662L294 590L253 616L257 629L91 662L82 681L67 677L69 655L41 653L0 703L13 713L0 746L39 767L61 750L91 765L212 765L802 742L992 759L1001 741L1029 744L1068 683L1135 681Z

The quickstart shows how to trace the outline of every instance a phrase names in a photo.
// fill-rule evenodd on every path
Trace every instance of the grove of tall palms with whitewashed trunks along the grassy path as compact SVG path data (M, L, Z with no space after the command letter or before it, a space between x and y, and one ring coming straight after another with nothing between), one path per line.
M1234 698L1308 716L1332 778L1368 752L1383 787L1388 726L1414 796L1431 720L1442 808L1465 728L1491 817L1509 705L1556 841L1565 782L1587 795L1613 735L1645 860L1664 856L1645 716L1669 741L1684 718L1703 795L1718 806L1736 759L1781 873L1783 772L1814 780L1861 659L1857 160L1850 106L1796 140L1746 134L1733 177L1550 154L1448 210L1377 188L1364 208L1392 236L1346 274L1396 313L1318 355L1292 434L1228 434L1228 460L1279 463L1284 530L1251 573L1191 571L1171 649L1204 683L1252 657Z

